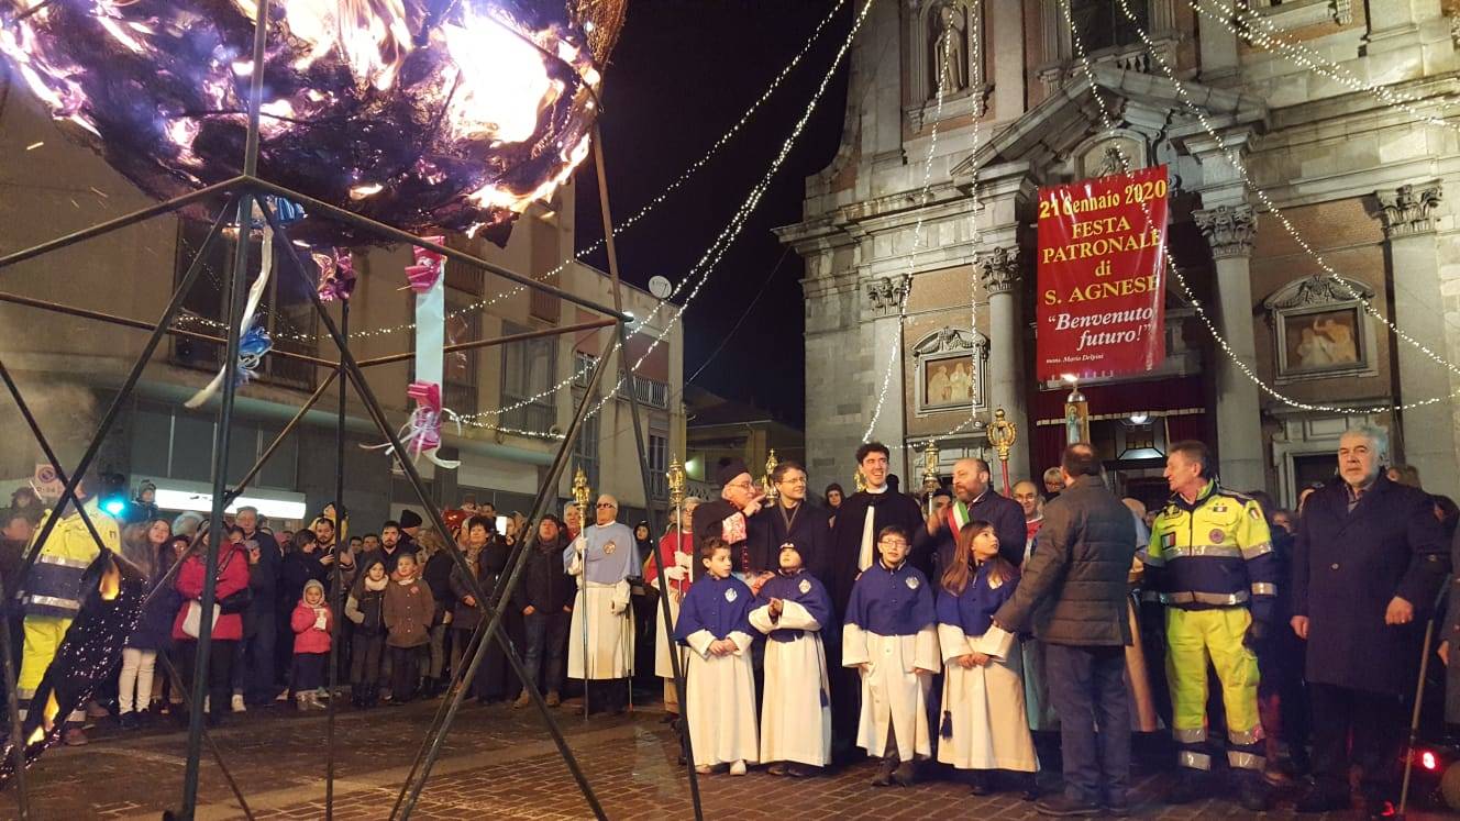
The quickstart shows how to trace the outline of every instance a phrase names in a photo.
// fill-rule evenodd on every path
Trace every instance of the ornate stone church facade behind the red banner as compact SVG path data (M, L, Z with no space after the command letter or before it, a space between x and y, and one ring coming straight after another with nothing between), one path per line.
M1441 0L873 4L841 149L778 231L806 261L813 481L850 486L869 435L907 489L930 438L945 476L994 460L999 409L1018 428L1013 481L1057 465L1070 387L1034 375L1037 191L1165 165L1165 359L1079 386L1117 489L1164 498L1167 446L1200 438L1228 486L1292 504L1333 475L1345 429L1375 424L1390 462L1454 494L1457 15Z

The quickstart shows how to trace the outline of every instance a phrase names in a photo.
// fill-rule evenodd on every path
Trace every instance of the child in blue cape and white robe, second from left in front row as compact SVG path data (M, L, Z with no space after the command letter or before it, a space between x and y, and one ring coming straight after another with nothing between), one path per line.
M806 573L800 549L781 545L780 573L761 587L750 625L765 646L761 761L772 776L804 777L831 761L831 701L821 634L832 621L831 596Z

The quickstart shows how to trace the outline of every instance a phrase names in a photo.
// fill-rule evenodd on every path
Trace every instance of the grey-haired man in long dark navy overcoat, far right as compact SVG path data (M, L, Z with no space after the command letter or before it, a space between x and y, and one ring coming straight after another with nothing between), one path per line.
M1294 548L1292 628L1308 644L1315 789L1299 812L1349 806L1349 764L1362 770L1369 817L1390 812L1421 635L1450 571L1434 503L1380 469L1387 437L1339 438L1339 479L1304 505Z

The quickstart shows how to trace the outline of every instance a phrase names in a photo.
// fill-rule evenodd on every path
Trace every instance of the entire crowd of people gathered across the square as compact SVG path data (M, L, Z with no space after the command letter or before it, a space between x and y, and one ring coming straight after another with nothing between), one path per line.
M806 777L872 757L877 786L959 774L978 795L1022 790L1048 815L1123 814L1133 733L1169 733L1172 803L1222 790L1225 761L1248 811L1270 805L1275 783L1307 779L1299 811L1359 799L1378 817L1460 517L1413 470L1383 469L1386 450L1383 431L1348 431L1334 479L1305 488L1294 511L1223 488L1196 441L1171 446L1171 495L1152 510L1108 489L1088 444L1007 497L986 462L964 459L950 488L915 498L869 443L856 454L866 488L831 485L825 507L794 462L762 484L727 459L720 498L685 500L657 546L607 494L537 522L469 503L448 513L448 533L407 510L352 535L334 504L276 532L244 507L216 562L204 709L210 722L279 703L311 711L346 691L359 710L406 704L442 695L479 657L469 695L482 703L526 707L536 691L558 707L578 681L585 711L618 713L651 641L666 717L702 774ZM201 517L152 508L118 524L86 482L77 495L155 592L114 688L69 717L69 744L85 744L88 719L131 729L184 716L209 621ZM0 516L6 578L42 516L29 491ZM73 511L23 577L12 619L22 709L98 551ZM498 641L479 644L479 597L518 558L504 625L524 679ZM1460 608L1441 637L1448 662ZM1056 758L1064 790L1041 796L1034 774Z

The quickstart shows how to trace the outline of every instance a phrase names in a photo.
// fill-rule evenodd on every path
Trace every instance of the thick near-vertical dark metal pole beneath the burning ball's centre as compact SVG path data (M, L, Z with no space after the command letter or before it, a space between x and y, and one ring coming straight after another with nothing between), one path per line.
M260 0L260 19L267 19L269 0ZM264 31L260 25L258 31ZM256 42L257 45L257 42ZM257 51L257 48L256 48ZM260 72L254 72L257 77ZM213 605L218 600L218 554L226 536L223 527L223 513L228 504L223 492L228 491L228 446L232 440L234 399L238 386L234 380L234 368L238 367L238 339L242 330L244 302L242 291L248 279L248 225L253 218L254 197L244 194L238 200L238 240L234 247L234 270L228 278L228 346L223 351L223 396L218 408L218 427L213 429L213 510L207 527L207 552L203 557L203 599L201 619L197 631L197 654L193 663L193 695L188 704L187 732L187 765L182 770L182 811L184 821L193 821L197 811L197 777L203 749L203 700L212 676L209 675L209 654L213 644ZM260 209L267 210L267 209ZM210 704L212 710L225 710L226 704Z

